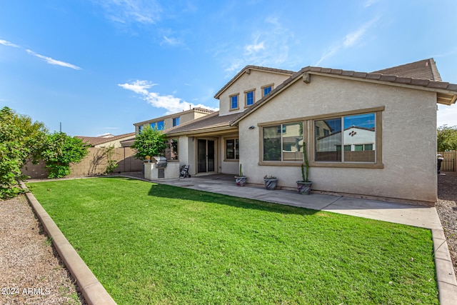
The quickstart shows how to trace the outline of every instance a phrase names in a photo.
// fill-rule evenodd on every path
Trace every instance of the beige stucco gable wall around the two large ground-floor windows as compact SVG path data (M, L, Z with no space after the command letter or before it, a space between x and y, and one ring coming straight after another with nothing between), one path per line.
M311 167L313 190L435 202L436 94L327 76L297 81L240 122L240 162L248 181L263 184L268 174L278 177L278 186L295 187L301 180L299 166L258 165L258 123L378 106L385 106L383 169ZM256 129L248 129L252 125Z

